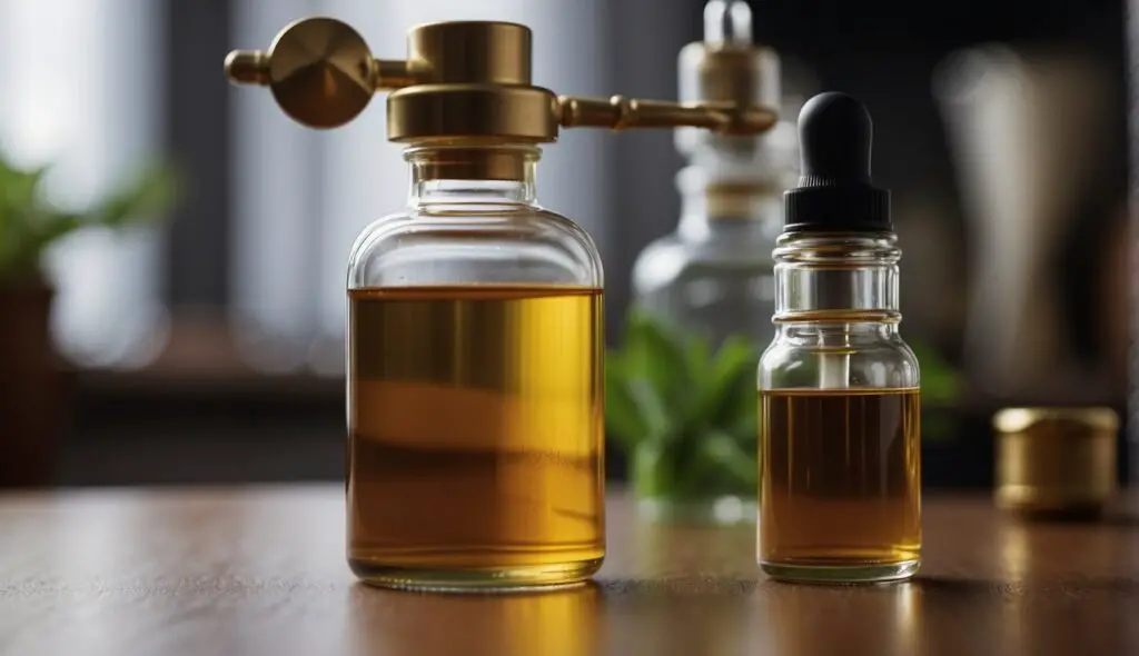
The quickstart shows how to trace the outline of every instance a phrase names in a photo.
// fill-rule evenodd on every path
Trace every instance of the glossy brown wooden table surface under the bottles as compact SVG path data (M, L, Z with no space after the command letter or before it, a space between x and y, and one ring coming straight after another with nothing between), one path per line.
M595 584L444 596L355 583L342 494L0 495L0 654L1139 654L1139 497L1083 525L927 497L917 580L818 588L765 580L752 528L614 495Z

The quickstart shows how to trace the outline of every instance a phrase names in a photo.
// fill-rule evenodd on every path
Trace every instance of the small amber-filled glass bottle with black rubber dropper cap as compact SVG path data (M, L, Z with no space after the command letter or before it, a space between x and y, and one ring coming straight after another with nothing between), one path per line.
M920 563L918 362L898 333L890 194L870 115L843 93L798 118L802 177L775 251L760 361L759 561L775 579L883 582Z

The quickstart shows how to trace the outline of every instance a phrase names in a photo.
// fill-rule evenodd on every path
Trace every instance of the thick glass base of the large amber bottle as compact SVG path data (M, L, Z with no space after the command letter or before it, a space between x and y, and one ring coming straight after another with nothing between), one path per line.
M601 568L601 558L466 569L393 567L349 558L349 567L361 581L377 588L434 592L538 592L584 584Z

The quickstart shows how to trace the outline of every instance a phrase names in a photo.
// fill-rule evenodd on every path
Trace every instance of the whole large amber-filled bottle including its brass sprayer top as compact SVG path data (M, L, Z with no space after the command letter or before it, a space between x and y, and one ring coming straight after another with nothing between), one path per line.
M369 226L347 271L347 560L434 590L581 583L605 554L601 263L534 196L562 128L752 133L770 109L557 97L531 84L523 25L433 23L375 59L331 18L294 23L227 68L314 128L379 90L405 145L408 208Z

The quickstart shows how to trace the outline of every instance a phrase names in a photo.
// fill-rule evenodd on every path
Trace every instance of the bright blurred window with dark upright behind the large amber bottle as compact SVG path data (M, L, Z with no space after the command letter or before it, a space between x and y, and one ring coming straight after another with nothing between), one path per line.
M49 257L55 330L81 366L339 375L344 265L355 235L405 202L400 147L377 96L352 124L316 132L267 90L229 87L230 48L265 48L289 22L346 20L377 56L444 19L524 23L534 81L611 92L603 0L2 0L0 148L55 163L50 192L83 203L170 150L188 199L161 229L77 233ZM543 205L599 240L607 224L601 131L547 150Z

